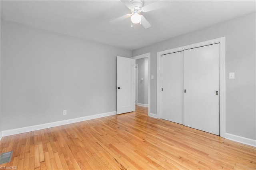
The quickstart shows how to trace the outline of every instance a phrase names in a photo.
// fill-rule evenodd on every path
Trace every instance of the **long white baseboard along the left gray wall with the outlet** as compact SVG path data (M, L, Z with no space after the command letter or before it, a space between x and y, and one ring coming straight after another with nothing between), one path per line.
M10 129L10 130L3 130L1 136L10 136L10 135L13 135L13 134L31 132L31 131L34 131L34 130L41 130L41 129L44 129L44 128L58 127L58 126L61 126L61 125L67 125L67 124L70 124L70 123L77 123L77 122L82 122L82 121L87 121L87 120L91 120L91 119L97 119L97 118L112 116L112 115L116 115L116 111L108 112L108 113L101 113L101 114L98 114L98 115L78 117L78 118L68 119L68 120L64 120L64 121L45 123L45 124L41 124L41 125L34 125L34 126L30 126L30 127L22 127L22 128Z

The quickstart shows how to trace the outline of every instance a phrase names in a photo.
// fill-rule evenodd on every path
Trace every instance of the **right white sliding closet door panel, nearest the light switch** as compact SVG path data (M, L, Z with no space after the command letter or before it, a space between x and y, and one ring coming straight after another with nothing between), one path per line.
M184 125L219 135L219 44L184 51L184 89Z

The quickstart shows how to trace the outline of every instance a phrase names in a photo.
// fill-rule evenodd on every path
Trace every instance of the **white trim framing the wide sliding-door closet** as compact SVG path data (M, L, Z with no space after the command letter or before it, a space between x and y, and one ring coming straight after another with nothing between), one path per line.
M220 136L226 134L226 80L225 80L225 37L208 40L205 42L185 45L174 49L159 51L157 53L157 118L161 119L161 55L183 51L204 45L220 43Z

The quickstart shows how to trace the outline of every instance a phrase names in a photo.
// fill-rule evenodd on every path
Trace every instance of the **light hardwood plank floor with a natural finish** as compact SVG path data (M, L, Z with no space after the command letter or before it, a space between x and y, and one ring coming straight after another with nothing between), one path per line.
M147 107L3 137L18 169L256 169L256 148L150 118Z

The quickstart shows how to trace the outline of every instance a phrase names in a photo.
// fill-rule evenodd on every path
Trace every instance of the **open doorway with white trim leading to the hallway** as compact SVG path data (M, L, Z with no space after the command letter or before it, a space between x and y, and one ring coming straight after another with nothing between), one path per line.
M148 107L150 116L150 53L132 57L136 63L135 103L140 107Z

